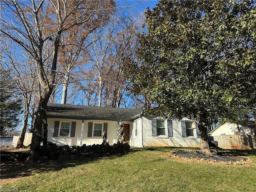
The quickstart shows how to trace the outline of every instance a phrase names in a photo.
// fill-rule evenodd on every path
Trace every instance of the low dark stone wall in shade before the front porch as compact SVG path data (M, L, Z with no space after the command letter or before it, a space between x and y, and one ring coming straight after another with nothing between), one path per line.
M79 158L96 158L103 156L111 156L118 154L125 154L130 149L128 143L118 143L111 145L104 144L83 144L82 146L57 146L54 143L48 143L48 146L41 148L41 156L50 160L57 160L58 162L66 160L76 160Z

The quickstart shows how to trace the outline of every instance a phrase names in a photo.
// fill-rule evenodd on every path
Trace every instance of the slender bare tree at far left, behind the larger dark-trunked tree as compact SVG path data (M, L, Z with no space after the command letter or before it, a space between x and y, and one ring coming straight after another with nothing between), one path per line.
M37 92L35 90L36 84L36 68L30 58L26 55L19 55L16 44L11 44L10 41L2 41L2 52L4 58L2 59L2 69L9 72L9 76L16 84L16 94L23 98L23 124L20 131L20 136L16 148L23 147L26 128L29 118L29 106L32 94Z

